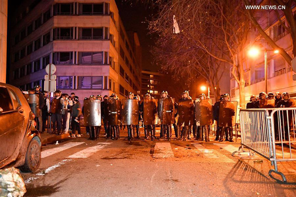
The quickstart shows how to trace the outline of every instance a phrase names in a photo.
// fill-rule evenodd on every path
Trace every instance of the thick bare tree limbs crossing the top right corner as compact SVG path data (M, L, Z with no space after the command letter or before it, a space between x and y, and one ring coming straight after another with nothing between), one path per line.
M293 57L296 56L296 18L293 14L293 3L295 4L295 0L270 0L268 3L270 5L282 5L286 8L283 10L274 10L277 18L280 22L280 24L285 28L286 31L290 33L291 40L292 40L292 46L293 46ZM245 5L256 5L255 0L244 0ZM248 13L252 23L257 28L259 33L262 35L262 37L267 41L267 43L273 48L279 50L279 53L281 56L286 60L286 62L291 65L292 58L283 48L278 46L275 41L273 41L272 37L268 35L261 27L261 25L258 22L258 19L255 18L254 13L256 10L246 9L246 12ZM281 19L281 15L284 15L286 18L286 21L288 25L285 25L283 20Z

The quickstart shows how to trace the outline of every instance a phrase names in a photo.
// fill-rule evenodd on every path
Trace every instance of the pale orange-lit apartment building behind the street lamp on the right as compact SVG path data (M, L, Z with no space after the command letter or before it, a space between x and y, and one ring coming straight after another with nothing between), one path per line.
M294 8L294 14L296 13ZM274 10L258 11L259 22L263 30L270 35L278 46L292 56L292 42L290 33L280 24ZM285 16L281 16L283 22L288 26ZM251 33L250 44L245 47L244 71L245 71L245 96L249 101L251 95L259 95L265 92L265 74L264 74L264 49L267 52L267 92L288 92L292 97L296 96L296 82L293 81L292 67L282 58L280 54L272 51L272 47L267 44L264 38L258 32ZM247 51L251 47L259 47L261 52L257 57L247 56ZM230 96L231 100L239 101L238 84L230 73Z

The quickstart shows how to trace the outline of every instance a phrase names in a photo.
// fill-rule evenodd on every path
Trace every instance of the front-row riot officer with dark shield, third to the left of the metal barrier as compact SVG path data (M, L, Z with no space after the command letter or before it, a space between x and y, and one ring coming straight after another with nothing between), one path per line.
M192 116L194 116L194 105L192 99L189 99L189 92L184 91L182 93L182 98L178 102L178 114L179 119L177 123L178 138L181 136L181 126L184 124L184 131L182 133L183 140L186 140L187 133L189 131L190 121L192 121Z

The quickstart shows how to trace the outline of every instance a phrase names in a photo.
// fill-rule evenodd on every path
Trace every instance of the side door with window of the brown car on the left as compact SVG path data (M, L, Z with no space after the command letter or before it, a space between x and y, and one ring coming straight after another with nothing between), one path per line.
M12 90L0 86L0 166L10 161L5 161L11 157L16 149L20 147L20 139L24 127L25 118L19 112L19 101ZM18 155L19 150L11 160Z

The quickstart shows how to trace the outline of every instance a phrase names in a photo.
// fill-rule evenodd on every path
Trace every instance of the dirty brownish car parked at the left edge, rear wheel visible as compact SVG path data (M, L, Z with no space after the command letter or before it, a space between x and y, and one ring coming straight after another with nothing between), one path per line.
M0 83L0 168L34 172L41 162L41 137L35 115L20 89Z

